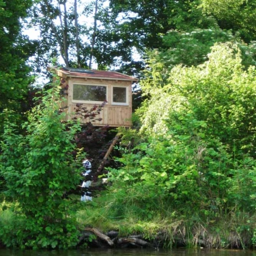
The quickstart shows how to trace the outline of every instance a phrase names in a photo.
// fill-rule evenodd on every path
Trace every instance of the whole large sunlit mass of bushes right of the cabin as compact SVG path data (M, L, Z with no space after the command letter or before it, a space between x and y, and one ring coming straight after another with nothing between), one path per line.
M213 221L234 207L253 210L255 68L241 63L236 44L216 44L202 65L175 66L168 82L152 72L144 82L151 97L137 110L143 142L123 150L123 167L109 174L144 218L157 199Z

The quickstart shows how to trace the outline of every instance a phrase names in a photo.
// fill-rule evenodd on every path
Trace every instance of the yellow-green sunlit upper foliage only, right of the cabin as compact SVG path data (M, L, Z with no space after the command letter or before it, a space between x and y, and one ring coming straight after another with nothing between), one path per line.
M235 145L253 154L254 68L244 71L241 52L232 47L214 46L210 60L198 67L175 67L168 73L166 84L159 85L159 79L151 80L150 87L143 84L146 92L152 88L152 98L137 111L142 129L164 133L168 129L166 119L172 120L170 113L192 111L196 120L207 122L209 135L220 137L230 149ZM176 119L181 118L177 115Z

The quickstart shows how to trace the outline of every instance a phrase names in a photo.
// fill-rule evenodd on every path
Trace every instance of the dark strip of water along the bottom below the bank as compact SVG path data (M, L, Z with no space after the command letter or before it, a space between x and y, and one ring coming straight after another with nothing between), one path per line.
M193 255L210 255L210 256L245 256L255 255L256 251L251 250L207 250L207 249L172 249L172 250L146 250L146 249L79 249L79 250L67 250L67 251L28 251L28 250L10 250L0 249L0 256L193 256Z

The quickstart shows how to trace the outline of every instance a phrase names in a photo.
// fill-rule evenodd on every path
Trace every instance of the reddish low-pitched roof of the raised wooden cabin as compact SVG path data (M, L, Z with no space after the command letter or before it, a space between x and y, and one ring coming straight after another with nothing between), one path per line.
M94 79L111 79L111 80L125 80L131 82L137 82L137 78L125 75L116 71L104 71L96 69L77 69L72 67L50 67L49 69L55 69L57 75L61 77L83 77Z

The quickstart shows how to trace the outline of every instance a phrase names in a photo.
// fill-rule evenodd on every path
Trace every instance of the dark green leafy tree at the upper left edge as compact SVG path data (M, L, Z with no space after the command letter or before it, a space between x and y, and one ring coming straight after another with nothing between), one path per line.
M22 19L28 15L32 1L0 1L0 134L3 132L3 110L15 110L20 119L24 97L32 82L26 64L34 53L34 44L22 36Z

